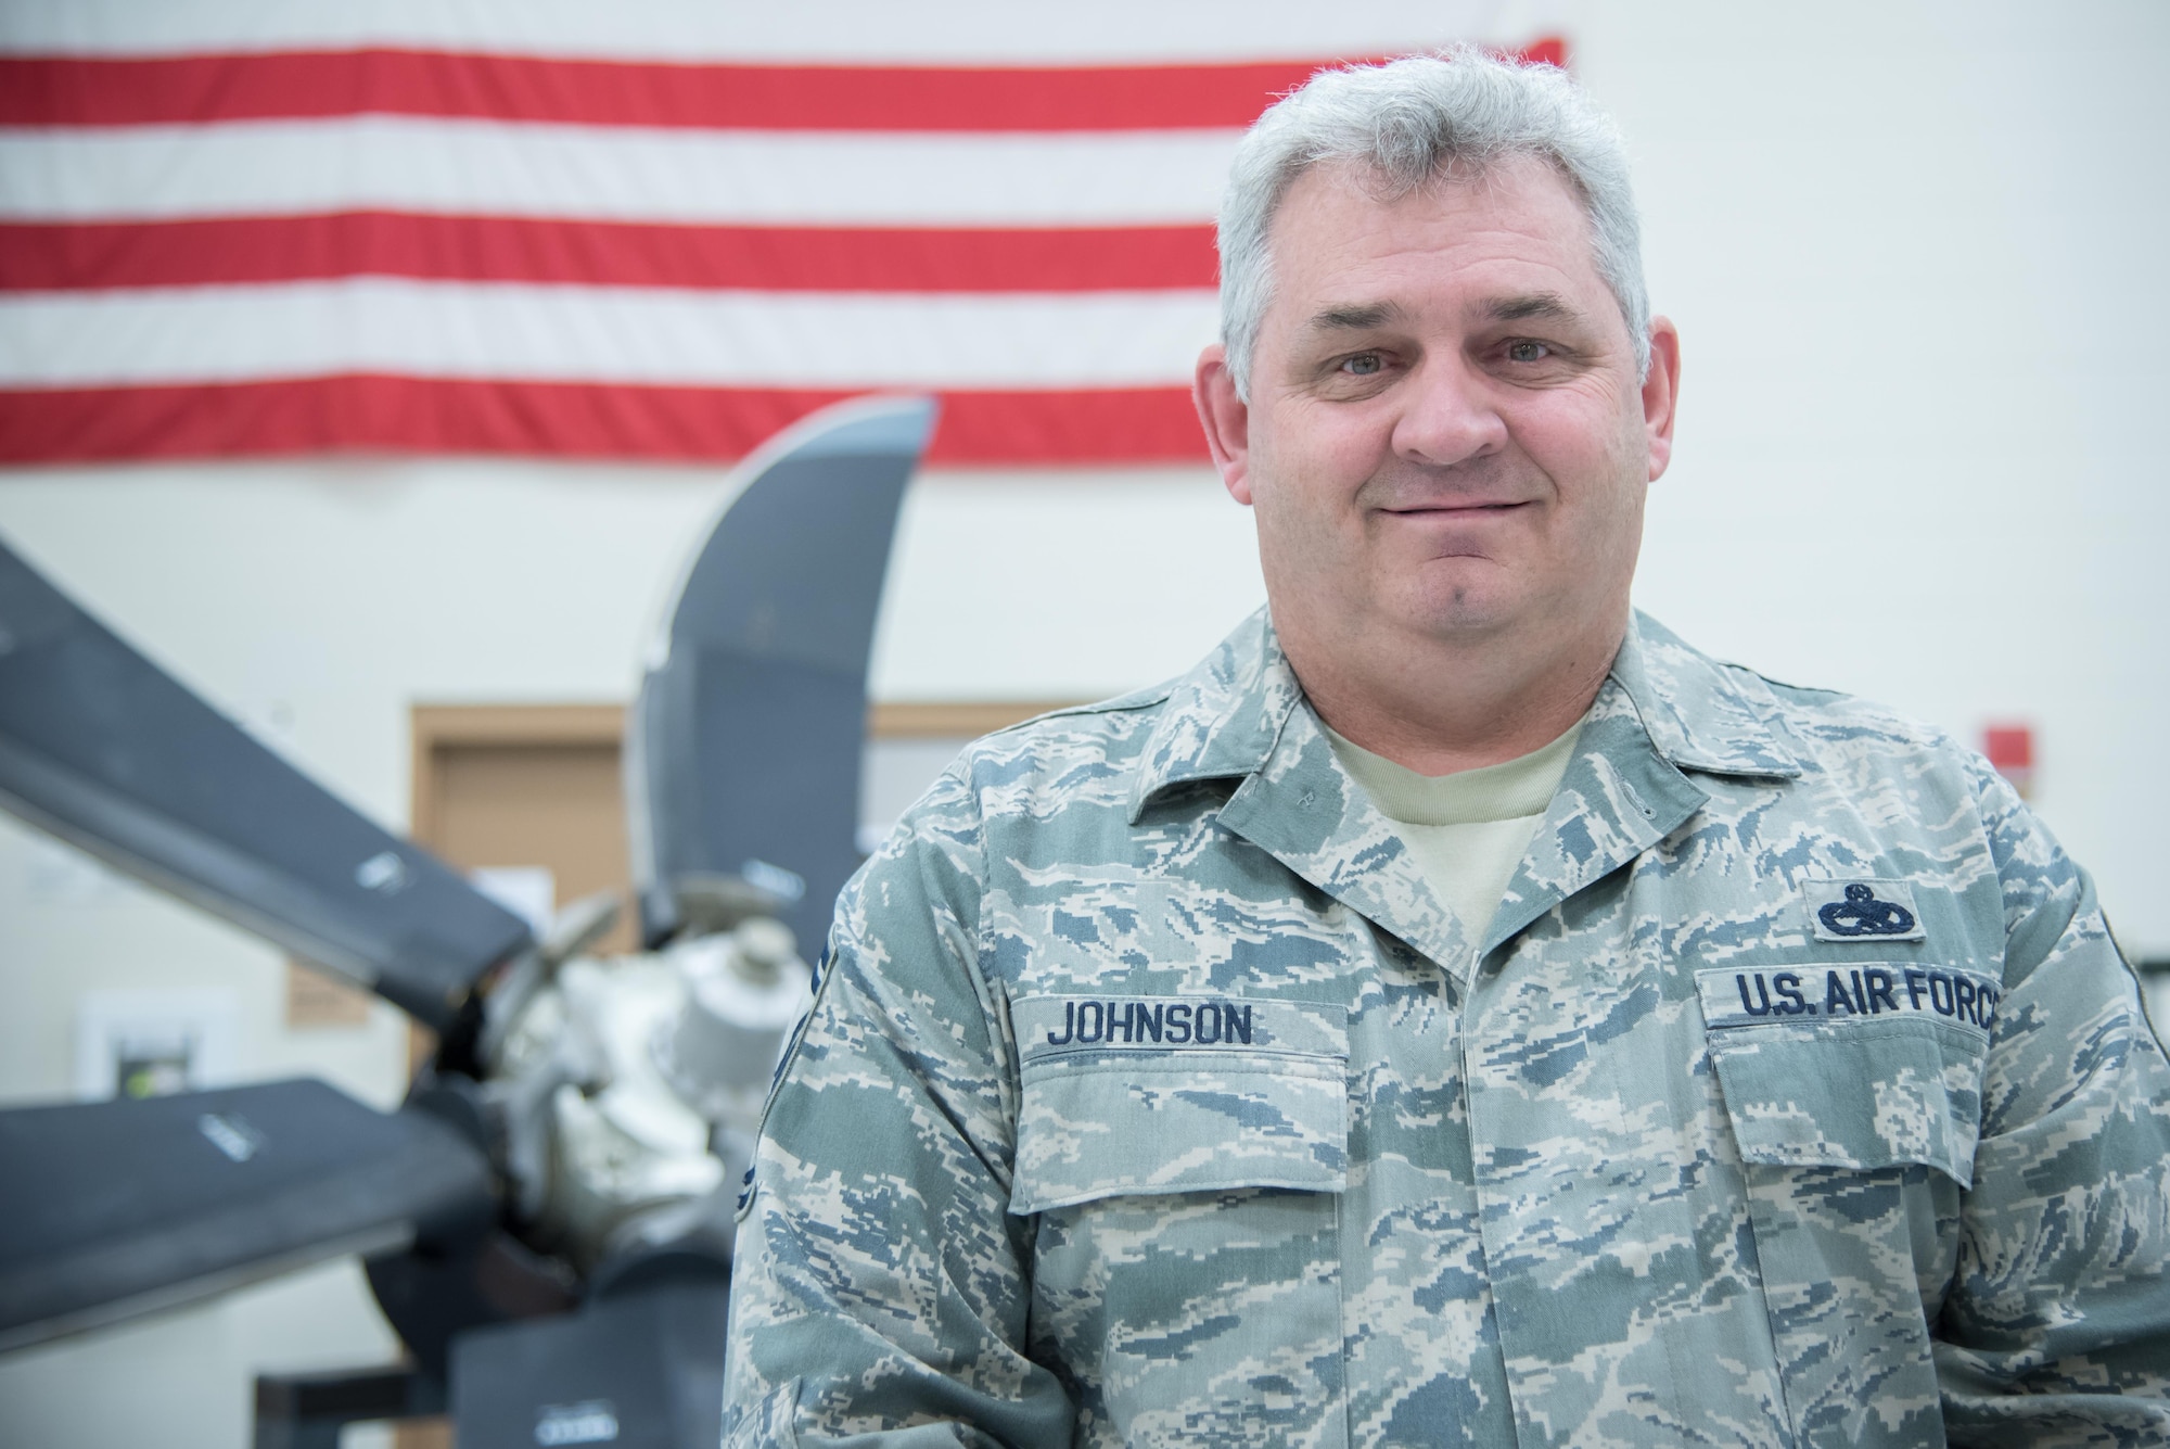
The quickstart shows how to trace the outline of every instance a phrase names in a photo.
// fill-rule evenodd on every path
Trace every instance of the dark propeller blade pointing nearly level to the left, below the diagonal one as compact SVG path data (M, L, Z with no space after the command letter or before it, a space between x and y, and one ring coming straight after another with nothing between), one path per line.
M0 1113L0 1351L336 1254L480 1236L488 1158L317 1082Z

